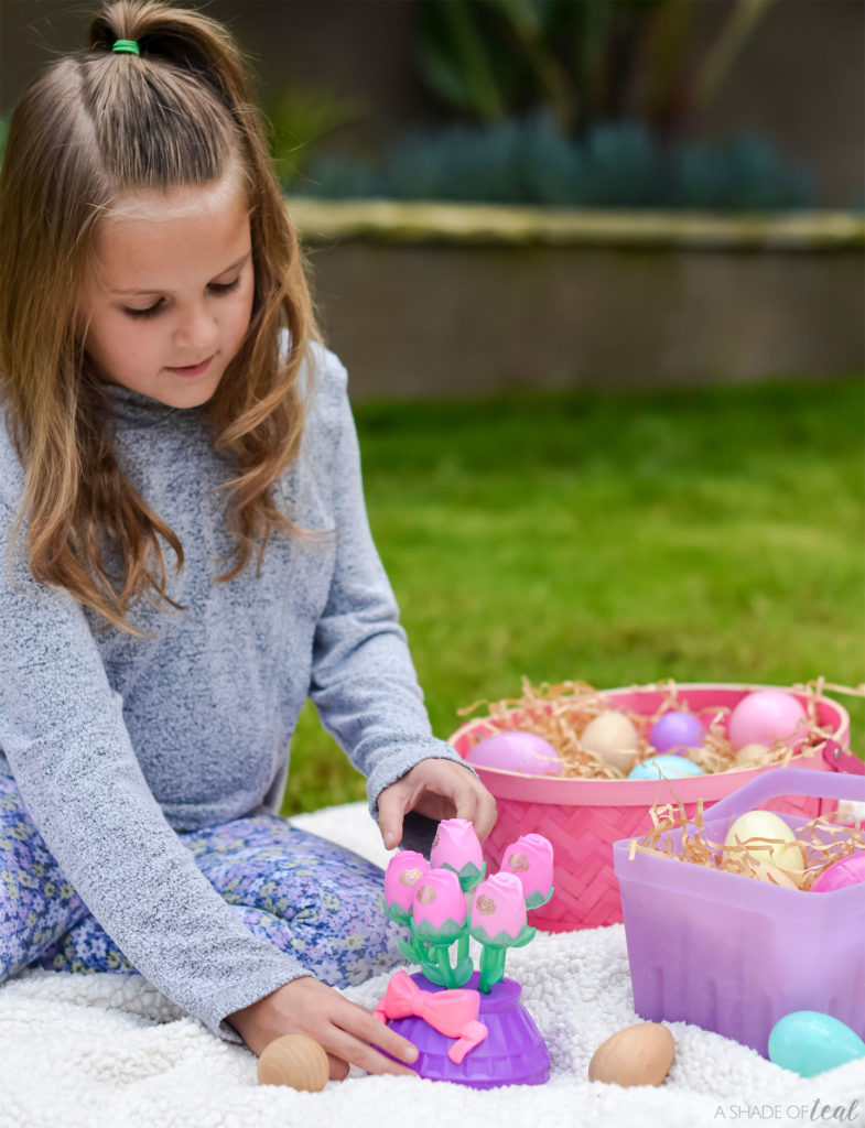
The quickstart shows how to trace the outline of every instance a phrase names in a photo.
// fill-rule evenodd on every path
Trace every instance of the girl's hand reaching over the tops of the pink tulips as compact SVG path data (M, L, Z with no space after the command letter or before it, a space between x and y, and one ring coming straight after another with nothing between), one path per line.
M381 792L379 830L388 849L403 840L407 811L439 820L468 819L480 841L495 825L495 800L471 772L453 760L421 760Z

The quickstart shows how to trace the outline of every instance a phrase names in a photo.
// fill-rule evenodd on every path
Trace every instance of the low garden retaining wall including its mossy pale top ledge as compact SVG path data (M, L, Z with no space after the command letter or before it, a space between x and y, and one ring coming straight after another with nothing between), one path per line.
M865 217L292 197L355 398L863 368Z

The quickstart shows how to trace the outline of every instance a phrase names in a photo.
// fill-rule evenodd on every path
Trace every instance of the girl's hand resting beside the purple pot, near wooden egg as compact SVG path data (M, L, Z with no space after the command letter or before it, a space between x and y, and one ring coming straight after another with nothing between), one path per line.
M413 1069L391 1061L376 1049L378 1046L403 1061L415 1061L415 1046L374 1019L372 1012L351 1003L311 976L292 979L257 1003L229 1014L226 1021L256 1056L282 1034L315 1038L327 1054L332 1081L343 1081L350 1065L360 1066L367 1073L417 1076Z

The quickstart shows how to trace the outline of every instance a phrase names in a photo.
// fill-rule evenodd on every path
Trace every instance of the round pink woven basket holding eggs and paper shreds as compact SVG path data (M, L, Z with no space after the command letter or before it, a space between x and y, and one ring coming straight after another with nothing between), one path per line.
M773 686L732 686L677 684L678 699L692 713L733 708L754 689ZM792 690L787 690L791 693ZM633 710L653 716L664 695L657 686L609 689L603 698L610 708ZM807 697L794 694L803 705ZM814 772L865 772L865 765L847 749L850 719L847 711L822 697L817 703L817 721L831 739L819 752L794 756L789 767ZM512 711L515 719L519 710ZM465 758L482 737L501 731L491 717L476 717L450 737L450 743ZM530 776L475 765L478 776L496 800L498 816L484 843L484 856L491 872L502 864L506 846L520 835L544 835L555 855L555 893L546 905L529 913L529 924L544 932L573 932L621 922L621 900L612 866L612 844L638 837L653 827L654 804L681 802L687 817L694 817L697 801L705 808L724 799L738 787L778 765L687 776L679 779L571 779L556 776ZM802 814L812 819L833 810L833 801L812 796L789 796L774 801L771 810Z

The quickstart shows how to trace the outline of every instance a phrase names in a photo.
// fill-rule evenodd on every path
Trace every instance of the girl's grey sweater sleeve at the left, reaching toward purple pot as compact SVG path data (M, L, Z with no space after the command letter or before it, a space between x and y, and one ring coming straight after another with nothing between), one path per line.
M138 970L239 1042L226 1016L307 972L244 926L169 827L80 605L36 583L20 559L10 575L12 515L0 501L0 748L24 803Z

